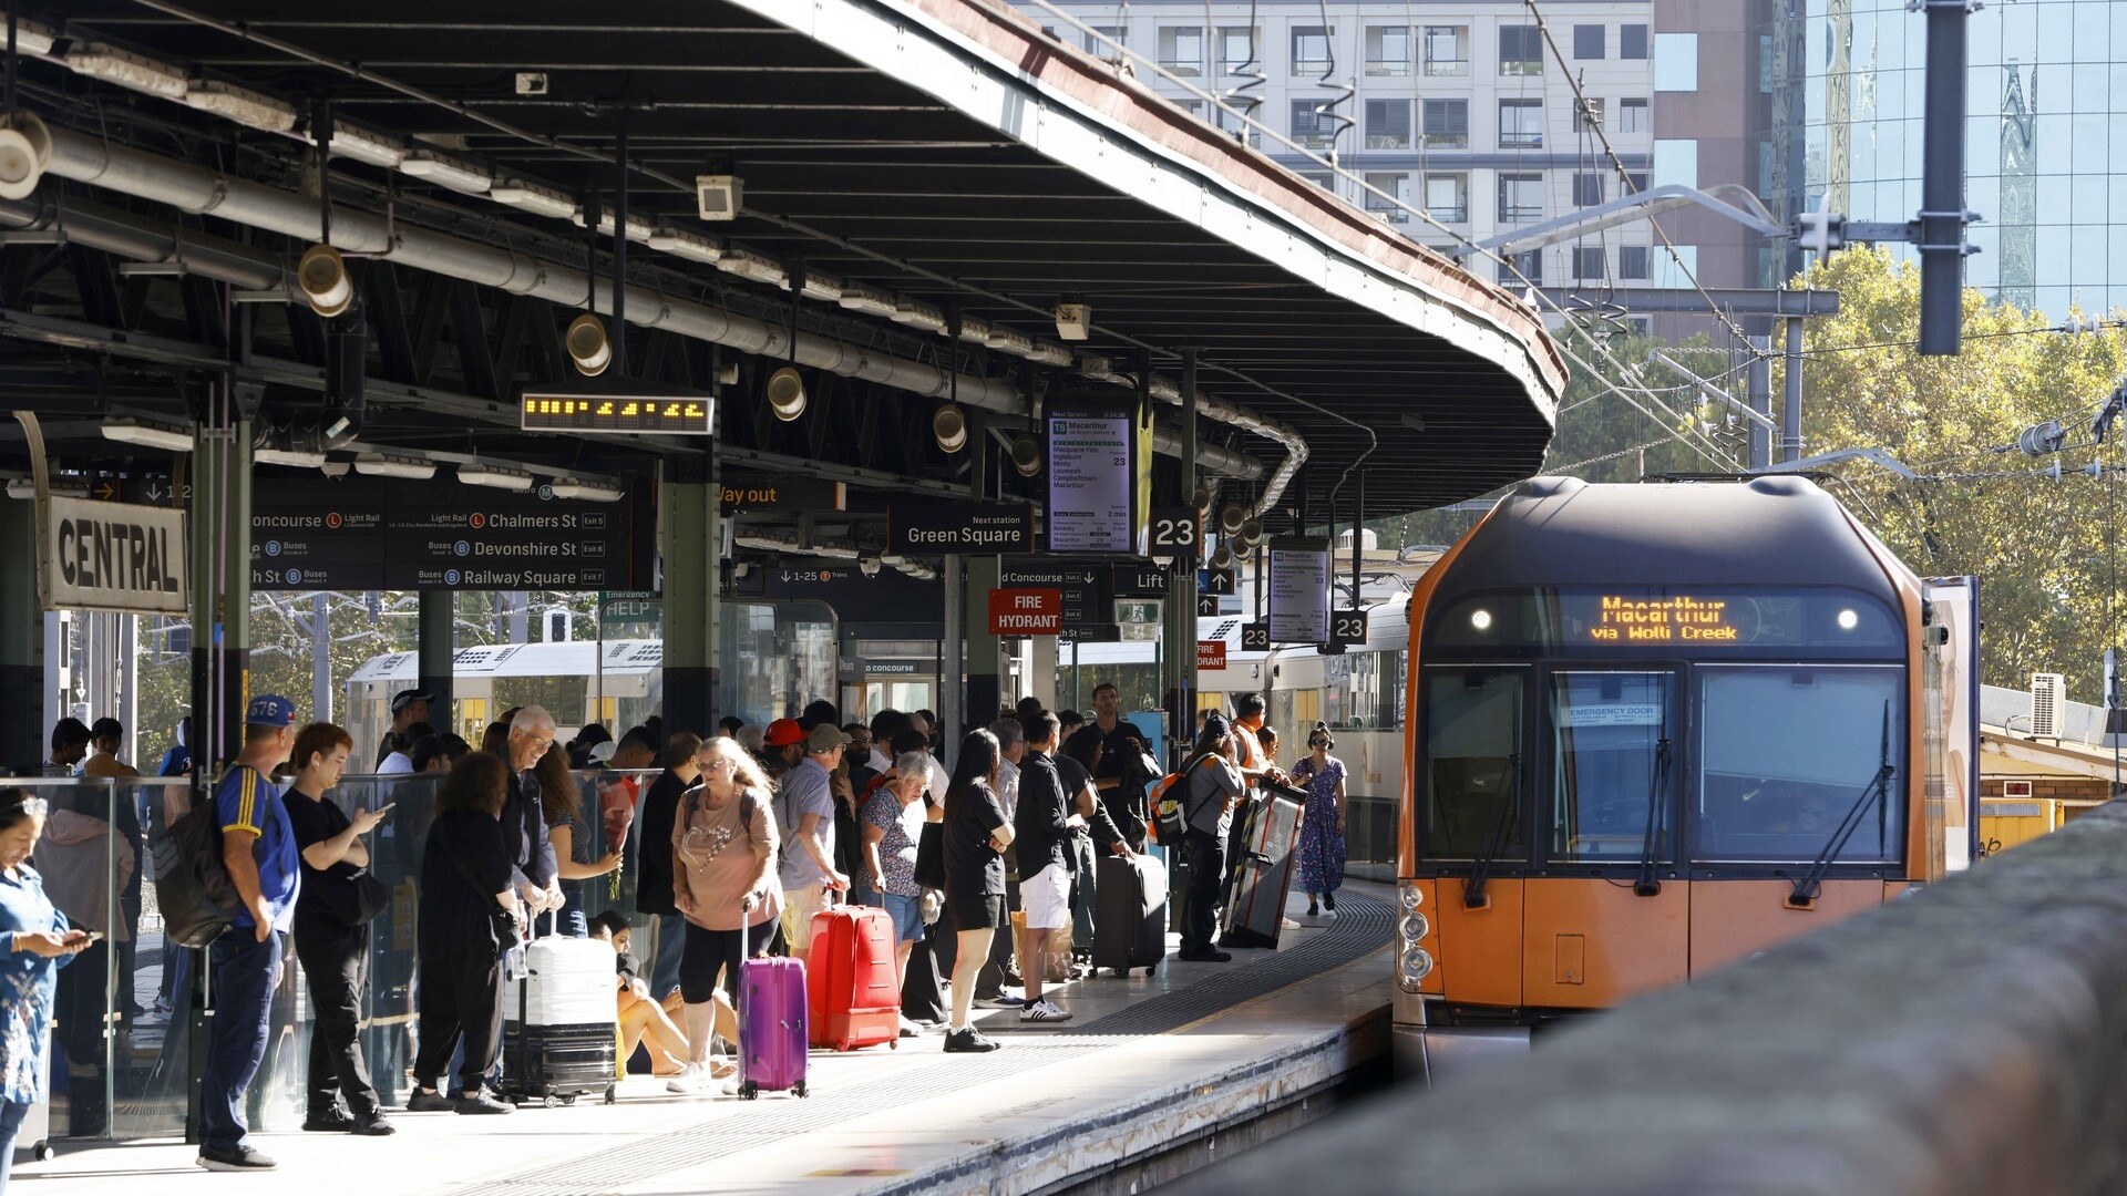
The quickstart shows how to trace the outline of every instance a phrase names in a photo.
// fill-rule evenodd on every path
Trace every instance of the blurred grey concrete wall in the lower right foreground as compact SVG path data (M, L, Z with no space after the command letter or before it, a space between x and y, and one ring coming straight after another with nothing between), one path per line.
M2127 804L1183 1192L2118 1192Z

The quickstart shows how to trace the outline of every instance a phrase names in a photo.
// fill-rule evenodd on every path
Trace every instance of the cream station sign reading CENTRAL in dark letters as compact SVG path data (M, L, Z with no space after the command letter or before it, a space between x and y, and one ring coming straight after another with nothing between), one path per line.
M51 498L43 547L36 587L47 611L185 613L183 511Z

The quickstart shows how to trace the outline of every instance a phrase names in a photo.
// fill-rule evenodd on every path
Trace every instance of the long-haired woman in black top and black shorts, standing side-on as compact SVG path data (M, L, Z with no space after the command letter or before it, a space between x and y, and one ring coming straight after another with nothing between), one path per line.
M959 932L953 964L953 1024L947 1051L993 1051L968 1021L974 977L989 958L989 938L1004 921L1004 849L1012 845L1012 824L998 800L998 736L972 730L959 745L953 779L944 790L944 898Z

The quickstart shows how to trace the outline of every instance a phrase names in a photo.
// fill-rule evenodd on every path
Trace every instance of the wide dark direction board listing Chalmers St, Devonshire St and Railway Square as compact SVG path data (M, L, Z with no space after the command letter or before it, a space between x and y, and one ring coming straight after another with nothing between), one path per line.
M383 479L285 479L251 513L253 589L642 589L634 502Z

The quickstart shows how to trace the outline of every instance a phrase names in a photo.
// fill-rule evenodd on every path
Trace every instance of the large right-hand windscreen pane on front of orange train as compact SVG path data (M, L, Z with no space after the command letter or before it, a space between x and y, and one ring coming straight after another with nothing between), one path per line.
M1893 862L1906 841L1906 670L1699 670L1693 858ZM1882 777L1882 779L1880 779Z

